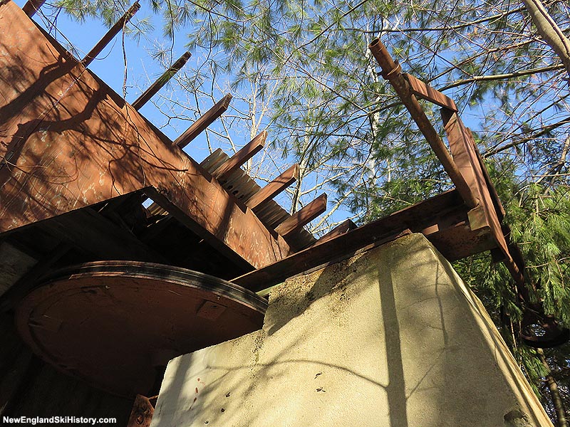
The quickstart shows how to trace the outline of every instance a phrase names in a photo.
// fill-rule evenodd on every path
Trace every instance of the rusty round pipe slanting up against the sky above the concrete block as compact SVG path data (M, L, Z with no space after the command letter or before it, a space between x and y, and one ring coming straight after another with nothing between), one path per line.
M453 184L455 184L455 187L457 188L457 191L461 194L465 204L470 208L477 206L479 201L474 194L472 194L470 187L467 185L467 182L463 178L455 162L453 162L445 144L443 144L440 135L437 134L437 131L425 115L420 103L411 92L410 84L408 83L408 80L405 80L403 77L400 65L394 63L394 60L388 53L388 50L378 38L372 41L368 48L374 58L378 61L380 68L382 68L383 78L390 82L403 104L408 109L408 112L410 112L413 120L418 125L418 128L435 152L435 155L440 159L445 172L450 176Z

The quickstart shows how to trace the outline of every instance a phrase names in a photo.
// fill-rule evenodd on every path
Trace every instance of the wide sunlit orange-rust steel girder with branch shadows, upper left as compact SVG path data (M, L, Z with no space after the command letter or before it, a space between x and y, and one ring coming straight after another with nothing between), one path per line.
M222 255L239 256L249 268L291 253L281 236L172 147L120 95L83 65L61 60L63 48L18 6L2 6L0 16L21 26L31 40L23 48L21 31L0 33L2 45L14 46L9 53L21 64L11 83L20 85L26 97L1 123L6 138L18 142L18 151L12 159L15 167L0 170L0 233L150 186L178 209L185 224L193 224L198 236L215 237ZM50 43L53 48L46 50ZM52 69L57 73L35 90L34 76ZM20 105L15 96L0 108ZM53 99L58 100L57 110Z

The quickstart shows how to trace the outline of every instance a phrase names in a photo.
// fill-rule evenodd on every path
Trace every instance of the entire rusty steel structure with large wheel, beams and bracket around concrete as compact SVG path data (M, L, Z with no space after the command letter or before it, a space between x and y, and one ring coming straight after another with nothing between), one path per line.
M89 70L138 3L83 60L31 20L41 4L0 1L0 415L65 408L149 425L145 396L168 359L258 329L259 295L285 278L407 233L449 260L491 251L517 284L526 325L545 331L524 339L568 339L529 302L522 257L455 102L401 73L380 41L370 48L383 76L455 189L316 239L304 227L326 210L326 194L293 215L273 200L298 165L264 188L242 169L266 132L232 156L218 149L198 163L182 151L232 95L174 141L140 114L189 53L132 105ZM418 98L442 107L450 150Z

